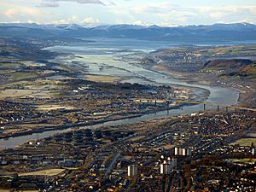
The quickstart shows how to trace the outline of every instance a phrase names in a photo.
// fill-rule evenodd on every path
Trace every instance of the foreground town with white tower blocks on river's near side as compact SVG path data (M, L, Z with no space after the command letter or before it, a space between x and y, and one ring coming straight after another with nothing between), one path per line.
M67 131L3 150L0 189L254 191L255 127L222 111Z

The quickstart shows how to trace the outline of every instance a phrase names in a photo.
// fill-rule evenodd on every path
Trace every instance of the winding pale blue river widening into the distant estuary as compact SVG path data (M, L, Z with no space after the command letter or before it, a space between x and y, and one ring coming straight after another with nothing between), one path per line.
M154 85L177 84L190 86L198 88L199 95L202 94L200 90L209 90L210 96L207 98L207 102L209 103L224 106L234 105L237 103L239 97L239 92L237 90L203 84L188 84L179 79L175 79L175 77L167 76L164 73L157 73L137 65L137 60L142 58L143 55L148 54L150 51L172 47L177 45L177 43L109 38L90 40L94 40L94 42L69 46L55 46L47 49L61 53L72 53L73 55L61 55L55 58L54 61L65 64L68 67L79 69L79 71L84 74L111 75L123 79L122 82L129 83ZM84 76L81 77L81 79L83 78ZM207 106L207 109L211 108L213 107ZM186 106L183 107L183 109L172 109L169 112L160 111L157 113L149 113L144 114L141 117L109 121L99 125L80 127L80 129L95 129L102 125L130 124L147 119L198 112L202 109L203 106L201 105ZM14 148L15 146L29 140L37 140L72 130L74 130L74 128L59 131L45 131L43 133L34 133L27 136L10 137L9 139L0 139L0 149Z

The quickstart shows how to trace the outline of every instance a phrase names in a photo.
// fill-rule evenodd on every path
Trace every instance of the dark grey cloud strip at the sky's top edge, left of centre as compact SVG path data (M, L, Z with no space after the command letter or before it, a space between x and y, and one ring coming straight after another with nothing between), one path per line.
M100 5L114 5L113 2L102 1L102 0L42 0L40 7L55 8L60 6L60 2L74 2L81 4L100 4Z

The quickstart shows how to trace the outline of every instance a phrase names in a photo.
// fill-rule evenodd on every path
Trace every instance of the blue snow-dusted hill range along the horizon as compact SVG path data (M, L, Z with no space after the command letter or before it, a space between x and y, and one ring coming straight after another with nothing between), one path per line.
M249 23L212 26L134 26L83 27L71 25L0 24L0 38L140 38L183 42L223 42L256 40L256 26Z

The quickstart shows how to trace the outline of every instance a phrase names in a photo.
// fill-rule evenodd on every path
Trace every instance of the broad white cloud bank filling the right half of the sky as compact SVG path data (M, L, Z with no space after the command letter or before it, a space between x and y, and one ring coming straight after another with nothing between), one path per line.
M164 26L213 24L217 22L239 22L247 20L255 23L256 6L181 6L170 2L137 4L130 7L136 20Z

